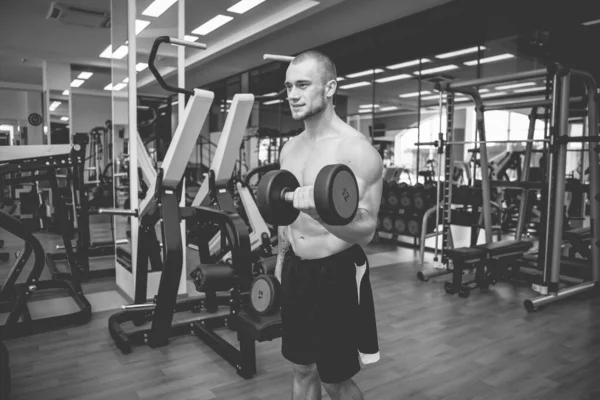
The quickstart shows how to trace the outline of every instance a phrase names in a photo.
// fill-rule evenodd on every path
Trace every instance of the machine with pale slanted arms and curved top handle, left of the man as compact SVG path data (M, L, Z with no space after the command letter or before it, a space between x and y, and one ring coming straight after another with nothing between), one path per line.
M149 66L161 86L170 91L189 93L191 97L186 105L182 123L178 126L158 171L156 182L148 191L148 196L140 204L135 304L123 306L123 311L110 316L109 332L123 353L131 352L133 345L164 346L168 344L169 338L191 332L233 365L239 375L251 378L256 373L255 341L271 340L280 336L280 317L279 314L270 317L258 316L249 306L249 289L253 276L249 262L248 228L233 208L232 199L229 199L230 201L226 199L227 196L230 196L224 189L226 182L216 181L214 171L211 171L209 179L207 179L211 185L210 188L207 188L207 192L212 193L213 196L222 197L217 202L221 209L199 205L180 206L182 177L200 132L198 121L200 120L200 125L204 122L214 94L200 89L188 91L168 86L153 65L154 57L161 43L203 46L169 37L159 37L155 40L151 51ZM253 102L254 97L251 94L234 96L222 133L225 139L230 134L243 131ZM101 210L101 212L138 216L137 210L109 209ZM225 263L201 264L195 271L194 283L205 296L178 300L177 288L182 277L184 257L180 227L182 220L189 221L191 224L202 223L217 226L221 240L231 249L232 263L231 265ZM159 221L162 221L163 237L162 273L154 301L146 303L148 248L157 242L155 225ZM206 230L206 232L208 231ZM210 258L209 238L202 239L198 243L199 254L201 261L205 261ZM217 292L226 292L226 294ZM194 314L192 320L185 321L174 319L176 313L185 311L198 313L203 308L208 313L214 313L218 310L219 305L229 307L229 312L225 315L215 316ZM121 325L127 321L132 321L136 326L150 322L151 326L134 332L125 332ZM216 328L223 326L237 332L239 349L215 332Z

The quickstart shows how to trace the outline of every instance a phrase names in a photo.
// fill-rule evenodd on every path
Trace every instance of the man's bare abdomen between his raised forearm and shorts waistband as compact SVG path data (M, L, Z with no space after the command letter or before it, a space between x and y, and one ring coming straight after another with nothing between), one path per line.
M288 226L287 233L294 253L306 260L328 257L352 246L304 213Z

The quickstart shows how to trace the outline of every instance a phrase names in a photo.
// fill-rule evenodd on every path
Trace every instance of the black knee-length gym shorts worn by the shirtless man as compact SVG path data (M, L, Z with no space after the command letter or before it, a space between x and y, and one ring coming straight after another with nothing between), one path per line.
M294 364L316 363L324 383L360 371L355 247L316 260L290 249L283 261L282 354Z

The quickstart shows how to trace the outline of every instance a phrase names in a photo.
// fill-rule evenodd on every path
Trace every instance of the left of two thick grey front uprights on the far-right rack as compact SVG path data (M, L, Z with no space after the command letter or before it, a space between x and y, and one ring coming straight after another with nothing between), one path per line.
M555 136L558 139L561 136L569 135L569 91L571 85L571 74L565 74L561 76L561 93L560 93L560 114L559 114L559 125L558 135ZM555 143L557 160L556 160L556 171L554 177L556 179L556 186L554 189L554 209L549 210L548 215L550 218L554 218L554 228L552 231L552 256L550 270L550 287L551 293L558 292L558 284L560 283L560 259L561 259L561 242L563 232L563 213L565 205L565 181L566 181L566 166L567 166L567 143Z

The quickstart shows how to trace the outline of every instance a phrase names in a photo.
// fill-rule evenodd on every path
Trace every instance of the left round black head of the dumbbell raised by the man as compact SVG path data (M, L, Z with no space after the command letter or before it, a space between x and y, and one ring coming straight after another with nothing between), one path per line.
M300 186L298 180L290 171L281 169L267 172L260 182L256 193L256 204L265 222L286 226L291 225L300 211L293 203L283 199L284 189L291 191Z

